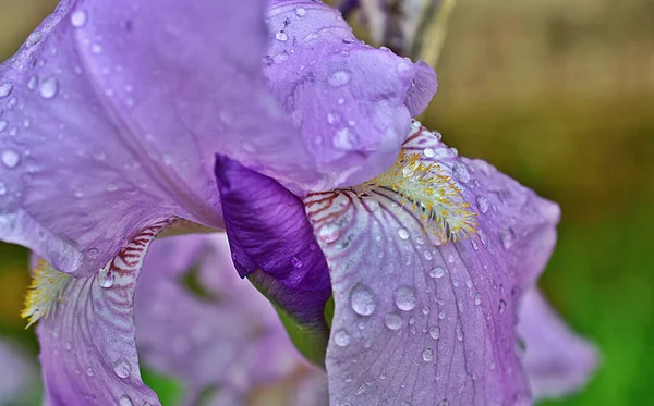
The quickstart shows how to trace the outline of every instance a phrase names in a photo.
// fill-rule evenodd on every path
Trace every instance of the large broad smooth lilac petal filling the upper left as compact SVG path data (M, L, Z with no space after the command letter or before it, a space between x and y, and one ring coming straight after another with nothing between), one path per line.
M221 227L215 152L315 182L265 32L258 0L62 1L0 65L0 239L89 276L160 219Z

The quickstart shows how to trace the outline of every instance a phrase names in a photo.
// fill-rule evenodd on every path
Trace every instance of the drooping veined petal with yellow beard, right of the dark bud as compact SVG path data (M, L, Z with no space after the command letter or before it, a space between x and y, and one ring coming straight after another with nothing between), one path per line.
M305 205L336 304L331 405L530 404L516 305L555 205L419 123L387 173Z

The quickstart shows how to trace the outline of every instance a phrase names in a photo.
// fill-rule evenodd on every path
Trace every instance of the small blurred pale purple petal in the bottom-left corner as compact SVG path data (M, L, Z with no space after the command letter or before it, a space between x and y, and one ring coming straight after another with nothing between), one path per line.
M17 404L34 379L26 355L16 345L0 341L0 405Z

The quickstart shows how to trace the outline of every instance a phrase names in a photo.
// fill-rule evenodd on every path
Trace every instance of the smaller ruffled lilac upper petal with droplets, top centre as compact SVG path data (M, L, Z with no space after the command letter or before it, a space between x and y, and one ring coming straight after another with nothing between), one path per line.
M313 189L353 185L390 167L436 91L436 74L356 40L337 10L269 1L264 73L323 173Z

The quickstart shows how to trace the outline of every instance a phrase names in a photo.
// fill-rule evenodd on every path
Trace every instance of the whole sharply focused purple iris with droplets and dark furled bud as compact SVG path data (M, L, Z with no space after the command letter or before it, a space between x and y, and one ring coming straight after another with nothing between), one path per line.
M159 405L141 267L157 236L216 231L330 405L530 404L517 311L559 209L413 122L435 91L317 1L62 1L0 67L0 239L43 258L24 316L47 404ZM528 328L567 343L548 320ZM583 355L535 357L543 387L582 382Z

